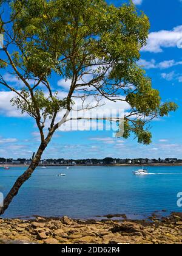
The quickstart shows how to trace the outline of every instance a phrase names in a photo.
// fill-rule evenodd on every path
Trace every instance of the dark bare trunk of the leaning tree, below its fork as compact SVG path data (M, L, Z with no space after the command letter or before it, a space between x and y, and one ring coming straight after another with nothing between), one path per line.
M10 192L7 194L7 196L4 199L4 206L0 207L0 215L4 214L5 210L7 210L10 203L12 202L13 198L18 194L18 191L22 187L24 182L32 176L33 171L35 171L35 168L39 165L42 153L44 152L46 146L47 145L41 143L41 145L39 146L38 151L36 152L35 157L32 160L31 165L29 166L27 171L25 171L24 174L19 176L19 178L16 180L12 189L10 190Z

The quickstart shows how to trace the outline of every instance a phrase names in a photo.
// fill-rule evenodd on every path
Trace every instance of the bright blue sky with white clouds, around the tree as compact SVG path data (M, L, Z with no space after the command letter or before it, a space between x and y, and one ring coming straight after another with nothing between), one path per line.
M116 5L124 1L108 1ZM58 131L44 154L45 158L182 158L182 1L135 0L138 9L150 19L150 35L141 51L140 65L152 78L154 88L160 90L163 101L175 101L179 108L169 117L152 122L152 144L143 146L132 137L124 140L112 137L109 131ZM12 77L7 76L7 80ZM52 83L58 83L53 77ZM0 157L32 156L39 144L35 123L21 116L9 104L10 94L0 93Z

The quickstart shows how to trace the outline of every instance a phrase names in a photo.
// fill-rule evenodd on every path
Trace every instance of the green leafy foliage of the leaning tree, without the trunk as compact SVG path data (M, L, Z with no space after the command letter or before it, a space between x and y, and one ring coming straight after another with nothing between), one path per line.
M123 96L130 105L124 138L134 133L139 143L149 144L152 135L146 128L147 121L167 116L177 105L161 104L158 90L152 88L151 80L137 65L149 34L147 16L138 12L132 1L121 7L104 0L27 0L23 5L22 1L11 2L18 49L11 57L24 79L34 77L45 85L56 73L61 79L72 80L66 99L52 96L50 88L48 97L43 90L26 88L21 91L23 98L16 97L12 103L35 118L39 118L39 112L44 119L52 118L61 108L71 108L79 77L90 72L94 82L86 82L84 87L95 87L97 94L109 99Z

